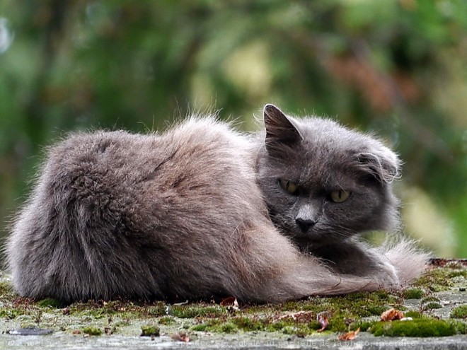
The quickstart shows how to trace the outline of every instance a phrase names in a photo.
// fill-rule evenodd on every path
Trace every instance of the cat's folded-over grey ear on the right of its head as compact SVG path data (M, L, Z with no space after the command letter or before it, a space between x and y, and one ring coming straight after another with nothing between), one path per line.
M359 170L379 182L391 183L400 177L400 160L396 153L385 146L357 154Z

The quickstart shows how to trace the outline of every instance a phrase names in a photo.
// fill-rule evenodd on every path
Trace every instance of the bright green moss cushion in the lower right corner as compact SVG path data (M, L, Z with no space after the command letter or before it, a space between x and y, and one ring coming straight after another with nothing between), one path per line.
M369 331L376 337L448 337L463 332L463 325L434 319L374 322Z

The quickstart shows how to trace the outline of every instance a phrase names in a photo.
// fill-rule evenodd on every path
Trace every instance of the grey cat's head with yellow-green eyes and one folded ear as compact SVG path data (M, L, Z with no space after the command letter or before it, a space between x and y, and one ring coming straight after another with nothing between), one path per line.
M398 225L391 182L400 161L367 134L329 119L296 119L264 108L258 184L285 235L323 245Z

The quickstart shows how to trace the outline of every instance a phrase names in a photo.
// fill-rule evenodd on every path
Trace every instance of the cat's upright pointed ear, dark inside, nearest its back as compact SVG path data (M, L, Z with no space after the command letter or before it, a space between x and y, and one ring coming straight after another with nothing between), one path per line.
M265 105L263 117L266 128L267 151L280 150L284 146L293 146L303 137L293 122L275 105Z

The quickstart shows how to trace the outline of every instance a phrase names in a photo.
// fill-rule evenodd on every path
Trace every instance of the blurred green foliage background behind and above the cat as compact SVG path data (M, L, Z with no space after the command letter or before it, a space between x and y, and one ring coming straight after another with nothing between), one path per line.
M405 231L467 257L467 1L0 1L0 230L70 130L275 103L381 135Z

